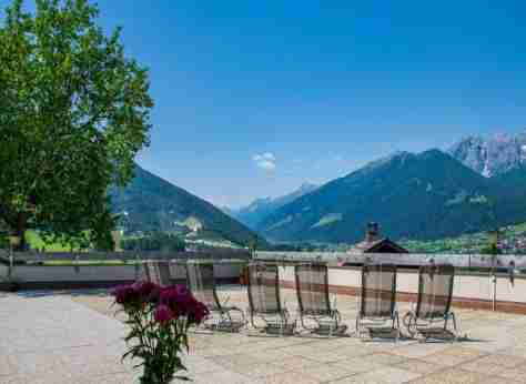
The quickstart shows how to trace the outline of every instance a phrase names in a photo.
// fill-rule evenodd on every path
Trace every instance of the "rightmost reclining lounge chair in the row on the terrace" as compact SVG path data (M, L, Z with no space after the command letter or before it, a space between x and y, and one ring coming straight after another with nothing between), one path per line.
M442 277L442 291L436 292L434 280ZM418 271L418 297L416 306L404 315L404 324L412 336L426 342L436 334L452 332L452 341L458 340L457 320L451 310L455 267L451 264L422 265ZM445 285L445 286L444 286ZM442 293L442 294L441 294ZM453 330L448 330L449 320ZM436 327L435 324L443 324Z

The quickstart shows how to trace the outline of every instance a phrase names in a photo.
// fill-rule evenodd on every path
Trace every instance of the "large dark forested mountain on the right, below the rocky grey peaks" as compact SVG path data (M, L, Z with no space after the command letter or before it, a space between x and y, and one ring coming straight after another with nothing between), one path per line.
M363 239L368 221L393 239L489 230L526 220L523 172L487 179L439 150L401 152L294 200L256 229L275 241L347 243Z

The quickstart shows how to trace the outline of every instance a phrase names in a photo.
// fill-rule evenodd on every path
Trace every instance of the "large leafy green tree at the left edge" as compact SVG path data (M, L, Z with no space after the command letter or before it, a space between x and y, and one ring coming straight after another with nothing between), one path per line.
M148 71L98 14L87 0L31 13L13 0L0 18L0 221L22 247L28 229L111 243L108 188L149 144Z

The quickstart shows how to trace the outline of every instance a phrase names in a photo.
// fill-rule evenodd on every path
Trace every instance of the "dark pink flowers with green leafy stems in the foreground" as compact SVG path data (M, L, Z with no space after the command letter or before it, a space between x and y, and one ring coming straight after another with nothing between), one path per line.
M188 330L208 315L206 306L195 300L184 285L161 287L151 282L121 285L111 291L127 314L130 345L122 358L142 362L142 384L166 384L178 371L186 370L181 361L189 351Z

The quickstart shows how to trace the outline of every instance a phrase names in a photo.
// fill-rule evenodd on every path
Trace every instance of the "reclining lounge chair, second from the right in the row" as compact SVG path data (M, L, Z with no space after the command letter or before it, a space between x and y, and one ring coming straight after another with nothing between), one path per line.
M372 274L377 274L382 286L370 286ZM390 277L384 282L384 277ZM385 284L385 286L384 286ZM357 297L358 299L358 297ZM388 301L388 307L385 304ZM396 305L396 265L364 264L362 267L362 294L358 299L356 334L363 340L364 329L376 329L391 322L395 341L399 338L399 315ZM370 306L373 306L371 310Z

